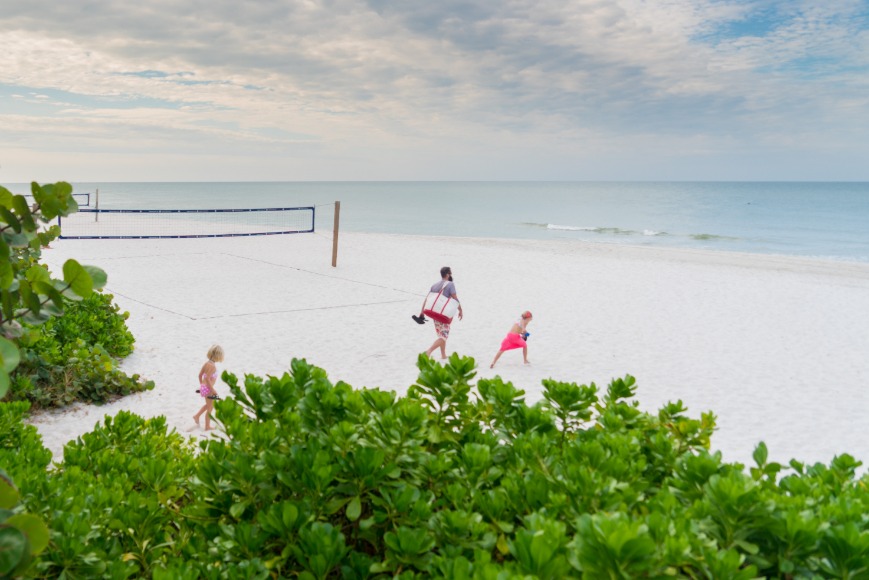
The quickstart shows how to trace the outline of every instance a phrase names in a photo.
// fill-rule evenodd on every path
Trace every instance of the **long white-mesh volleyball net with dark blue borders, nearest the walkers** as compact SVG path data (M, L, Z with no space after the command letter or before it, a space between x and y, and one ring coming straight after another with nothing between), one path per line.
M313 233L315 208L80 209L58 224L66 240L269 236Z

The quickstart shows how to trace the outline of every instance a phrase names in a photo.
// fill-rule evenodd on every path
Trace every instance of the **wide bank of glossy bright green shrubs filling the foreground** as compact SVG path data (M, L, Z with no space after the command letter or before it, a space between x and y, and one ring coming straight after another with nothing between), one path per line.
M105 418L48 458L0 405L0 467L46 522L29 577L860 578L869 490L829 465L727 463L715 419L642 411L631 376L543 383L421 356L406 395L293 360L224 373L220 435ZM5 418L4 418L5 417ZM13 455L9 450L19 451ZM23 458L23 459L19 459ZM11 463L10 463L11 462Z

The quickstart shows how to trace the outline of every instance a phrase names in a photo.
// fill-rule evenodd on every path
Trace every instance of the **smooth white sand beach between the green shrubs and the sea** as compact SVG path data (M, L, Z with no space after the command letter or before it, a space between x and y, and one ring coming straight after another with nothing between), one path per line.
M219 368L279 375L304 357L333 381L405 392L434 328L415 324L443 265L465 318L448 352L473 356L541 397L541 380L637 377L654 411L683 400L713 411L713 448L751 464L758 441L774 460L869 460L869 264L572 242L329 233L201 240L60 240L44 253L104 268L130 312L129 373L153 391L102 407L38 414L45 444L63 445L121 409L165 415L181 432L201 405L196 376L212 344ZM530 366L511 351L489 363L513 320L534 313ZM219 383L221 385L221 383ZM227 394L226 385L218 387ZM201 431L191 435L202 436Z

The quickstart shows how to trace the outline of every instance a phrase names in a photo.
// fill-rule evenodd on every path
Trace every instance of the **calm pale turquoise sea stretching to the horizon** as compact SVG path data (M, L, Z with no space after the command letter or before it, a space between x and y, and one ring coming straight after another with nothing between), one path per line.
M585 240L869 262L869 183L74 183L102 208L317 205L347 231ZM26 186L9 187L25 192ZM91 203L94 203L92 199Z

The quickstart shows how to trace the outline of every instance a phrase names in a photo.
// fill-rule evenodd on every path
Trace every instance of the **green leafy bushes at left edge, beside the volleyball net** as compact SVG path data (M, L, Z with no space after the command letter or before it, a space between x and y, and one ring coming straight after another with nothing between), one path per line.
M75 211L68 183L33 183L30 200L0 187L0 399L101 403L153 386L117 368L134 339L100 292L105 272L69 259L55 278L40 263L60 234L51 221Z

